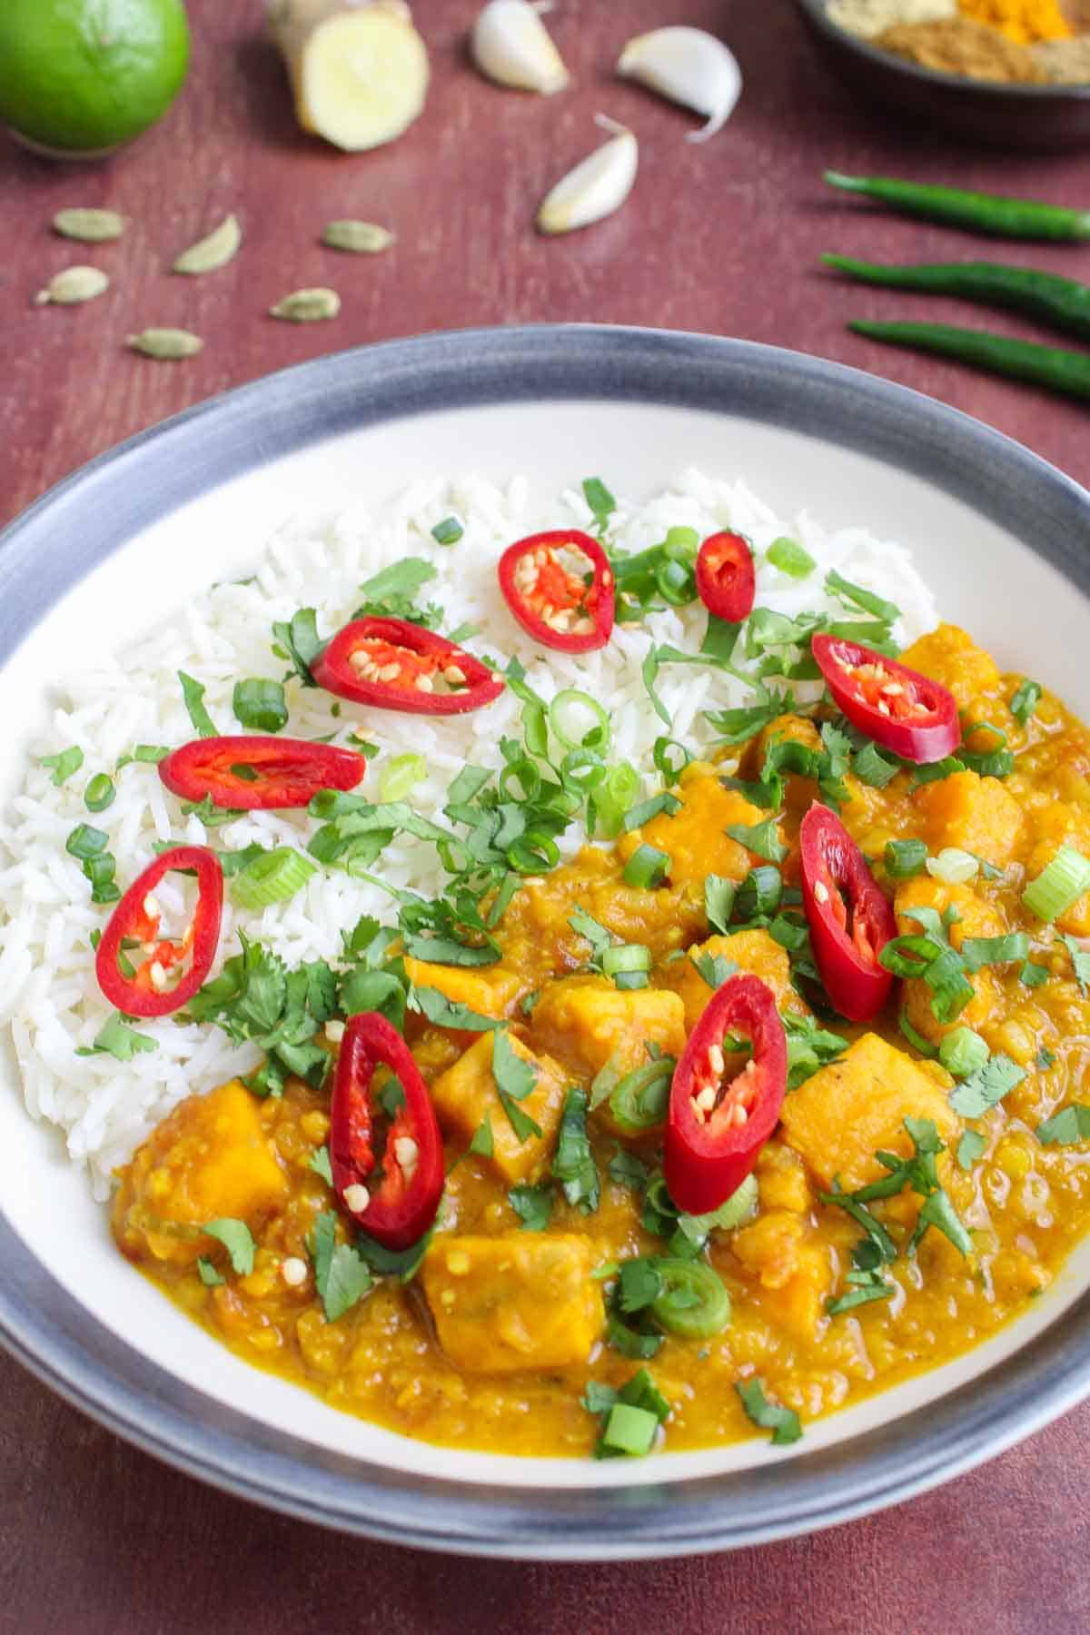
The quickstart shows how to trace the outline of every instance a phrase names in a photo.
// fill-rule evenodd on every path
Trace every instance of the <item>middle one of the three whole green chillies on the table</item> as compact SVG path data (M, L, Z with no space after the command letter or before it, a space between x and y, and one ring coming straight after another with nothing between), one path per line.
M994 262L887 267L856 262L850 255L822 255L822 262L863 284L918 289L923 294L958 296L982 306L1008 307L1072 335L1090 337L1090 284L1080 284L1074 278Z

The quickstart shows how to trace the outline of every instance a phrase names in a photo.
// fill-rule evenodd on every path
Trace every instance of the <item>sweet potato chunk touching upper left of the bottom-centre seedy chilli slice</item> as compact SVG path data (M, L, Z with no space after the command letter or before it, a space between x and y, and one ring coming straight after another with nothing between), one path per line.
M660 988L623 991L605 976L567 976L551 983L534 1006L531 1038L536 1050L585 1077L606 1063L629 1073L649 1059L647 1045L681 1055L685 1006Z

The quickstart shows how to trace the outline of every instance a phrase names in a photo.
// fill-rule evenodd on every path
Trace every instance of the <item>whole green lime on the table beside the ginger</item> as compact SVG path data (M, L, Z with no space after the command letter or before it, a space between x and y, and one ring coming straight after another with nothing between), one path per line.
M129 142L167 111L188 65L181 0L0 0L0 123L44 152Z

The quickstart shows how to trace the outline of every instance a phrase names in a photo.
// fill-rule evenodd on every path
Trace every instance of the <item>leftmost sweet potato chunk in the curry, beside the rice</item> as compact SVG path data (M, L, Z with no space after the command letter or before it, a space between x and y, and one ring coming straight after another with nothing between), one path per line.
M121 1171L113 1223L134 1261L196 1261L211 1239L204 1221L230 1216L255 1228L288 1197L261 1125L260 1102L232 1079L190 1095Z

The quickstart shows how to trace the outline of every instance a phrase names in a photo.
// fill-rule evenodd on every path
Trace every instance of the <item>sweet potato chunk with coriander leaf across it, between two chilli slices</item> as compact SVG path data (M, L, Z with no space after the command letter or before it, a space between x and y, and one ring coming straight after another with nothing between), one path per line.
M536 1125L541 1125L541 1136L528 1135L525 1141L520 1141L503 1112L500 1092L492 1076L495 1033L482 1033L453 1068L435 1079L431 1100L443 1131L459 1136L466 1146L487 1117L492 1125L492 1158L487 1162L503 1180L515 1184L536 1180L544 1172L556 1146L567 1077L556 1061L547 1056L534 1056L513 1033L510 1041L515 1055L528 1061L538 1074L536 1089L518 1105Z

